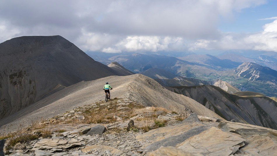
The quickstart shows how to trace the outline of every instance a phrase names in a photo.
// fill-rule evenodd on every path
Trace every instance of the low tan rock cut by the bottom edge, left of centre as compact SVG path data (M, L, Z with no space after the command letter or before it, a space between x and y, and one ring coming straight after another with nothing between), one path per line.
M89 154L95 154L95 155L101 155L101 152L103 152L103 154L109 154L109 155L112 155L112 154L113 155L123 155L124 154L121 150L118 150L118 149L110 147L110 146L105 146L105 145L92 145L92 146L83 148L81 151L83 153L89 153Z

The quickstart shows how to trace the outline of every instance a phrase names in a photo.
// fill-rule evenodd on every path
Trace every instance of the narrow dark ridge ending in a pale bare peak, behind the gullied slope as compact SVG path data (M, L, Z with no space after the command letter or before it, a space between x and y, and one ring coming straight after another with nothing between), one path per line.
M162 86L201 86L204 84L209 84L213 86L218 86L224 91L227 91L228 93L236 93L240 92L239 89L236 87L228 84L225 81L222 81L220 79L214 80L214 81L203 81L199 79L193 79L193 78L185 78L185 77L175 77L173 79L155 79L159 84Z

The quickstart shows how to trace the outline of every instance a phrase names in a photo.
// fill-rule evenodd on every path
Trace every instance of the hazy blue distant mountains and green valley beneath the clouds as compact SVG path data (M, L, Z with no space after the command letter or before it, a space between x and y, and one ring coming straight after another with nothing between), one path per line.
M265 62L263 60L255 60L253 58L247 58L245 56L238 55L241 53L235 52L232 54L231 52L225 52L217 57L196 54L179 57L184 60L170 56L136 53L132 55L113 56L109 58L109 60L118 62L123 67L132 72L141 72L142 74L152 78L164 79L164 77L166 77L165 75L168 75L165 74L162 76L161 73L156 73L157 75L161 76L157 77L152 74L155 73L152 69L152 71L147 71L150 68L159 68L185 78L194 78L209 82L215 81L216 79L221 79L228 84L235 86L241 91L254 91L265 94L269 97L277 97L277 86L276 82L274 81L276 80L276 76L274 76L274 73L276 72L275 70L270 70L270 68L260 66L256 70L246 70L239 74L239 72L242 70L242 67L247 64L243 64L245 61L262 62L265 64L270 63L273 66L276 64L276 62ZM266 56L270 55L269 57L275 57L274 53L267 54L264 52L255 52L253 55L250 55L249 52L248 54L249 55L246 56L256 57L263 54ZM224 58L224 56L226 58ZM221 57L224 59L220 59ZM258 64L255 65L255 67L257 66ZM254 71L255 73L253 73ZM260 78L256 77L254 80L252 79L249 81L250 75L255 77L257 73L259 73Z

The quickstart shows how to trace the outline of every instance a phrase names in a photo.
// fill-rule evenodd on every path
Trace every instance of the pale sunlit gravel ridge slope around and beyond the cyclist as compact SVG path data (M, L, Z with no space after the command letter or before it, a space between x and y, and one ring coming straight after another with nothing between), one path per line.
M25 124L29 124L37 117L53 117L67 110L72 110L75 107L104 100L105 94L103 86L105 82L109 82L113 87L113 90L111 90L111 98L129 98L144 106L153 105L176 112L184 112L187 109L196 112L198 115L221 118L197 101L173 93L149 77L134 74L129 76L110 76L94 81L79 82L51 94L11 117L4 118L0 121L0 126L8 123L9 125L16 125L23 121Z

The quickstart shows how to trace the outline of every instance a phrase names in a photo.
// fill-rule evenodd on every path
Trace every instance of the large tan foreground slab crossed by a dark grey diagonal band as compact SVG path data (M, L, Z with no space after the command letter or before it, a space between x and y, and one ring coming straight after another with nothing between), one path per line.
M237 134L202 124L195 113L180 124L155 129L136 138L139 141L152 140L152 143L145 145L145 151L172 146L200 155L234 154L245 141Z

